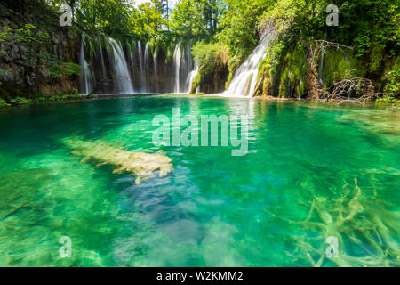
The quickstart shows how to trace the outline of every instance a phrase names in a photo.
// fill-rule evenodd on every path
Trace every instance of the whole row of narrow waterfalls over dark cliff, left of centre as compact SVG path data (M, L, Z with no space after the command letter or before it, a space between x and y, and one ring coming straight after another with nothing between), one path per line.
M91 52L85 58L84 51ZM189 93L198 73L198 63L193 64L190 45L175 46L172 61L168 53L148 42L123 44L111 37L95 37L90 40L82 35L80 77L82 94L134 94L140 93ZM163 64L161 64L163 63ZM110 80L108 77L112 78ZM95 81L95 78L99 78Z

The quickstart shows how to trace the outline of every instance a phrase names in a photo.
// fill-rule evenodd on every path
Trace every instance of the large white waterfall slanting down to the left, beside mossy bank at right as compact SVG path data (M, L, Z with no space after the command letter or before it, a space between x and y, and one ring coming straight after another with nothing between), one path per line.
M265 49L269 43L272 34L261 38L259 45L254 49L252 54L237 69L235 76L232 78L228 90L223 93L225 96L244 96L249 97L257 85L257 76L259 73L259 64L265 56Z

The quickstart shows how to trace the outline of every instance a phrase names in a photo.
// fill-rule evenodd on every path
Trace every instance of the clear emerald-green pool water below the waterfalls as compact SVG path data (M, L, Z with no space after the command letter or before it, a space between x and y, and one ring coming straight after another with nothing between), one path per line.
M197 116L249 114L249 153L163 147L174 173L135 185L132 175L81 163L60 142L76 136L158 151L149 121L172 117L176 107ZM309 266L299 239L326 248L324 232L289 221L305 220L314 196L331 200L320 205L335 213L343 185L353 193L355 179L363 207L352 220L370 239L349 224L340 247L374 259L387 248L377 222L368 224L376 217L392 241L387 259L398 261L397 119L386 110L179 96L0 110L0 265ZM71 258L59 256L61 236L72 239Z

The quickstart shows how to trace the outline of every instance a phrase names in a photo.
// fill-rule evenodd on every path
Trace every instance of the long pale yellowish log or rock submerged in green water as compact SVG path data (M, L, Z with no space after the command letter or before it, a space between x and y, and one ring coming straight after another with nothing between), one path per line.
M71 148L72 154L83 157L83 163L94 162L96 167L111 165L115 167L113 173L128 172L136 175L136 183L144 178L153 176L157 171L160 177L172 172L172 160L167 156L157 153L125 151L112 147L105 142L84 142L68 140L64 143Z

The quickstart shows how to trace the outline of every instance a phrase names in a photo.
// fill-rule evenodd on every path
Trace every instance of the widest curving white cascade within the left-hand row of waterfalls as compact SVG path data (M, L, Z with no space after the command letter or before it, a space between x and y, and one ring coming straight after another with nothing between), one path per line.
M116 76L116 93L133 94L131 75L129 73L128 64L125 60L122 45L116 42L116 40L111 37L108 37L108 41L111 44L113 50L112 65Z

